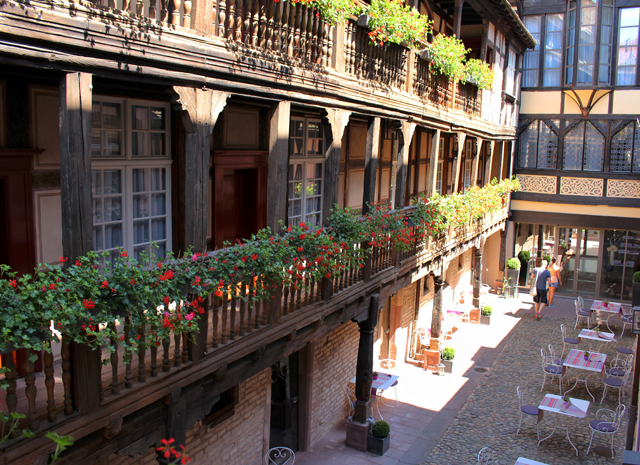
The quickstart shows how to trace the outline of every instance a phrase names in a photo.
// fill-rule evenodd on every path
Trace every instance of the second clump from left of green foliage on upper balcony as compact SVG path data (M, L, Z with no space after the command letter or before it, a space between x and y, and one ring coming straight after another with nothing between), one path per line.
M427 41L431 34L431 21L402 0L371 0L365 12L369 15L369 40L374 45L386 43L409 47Z

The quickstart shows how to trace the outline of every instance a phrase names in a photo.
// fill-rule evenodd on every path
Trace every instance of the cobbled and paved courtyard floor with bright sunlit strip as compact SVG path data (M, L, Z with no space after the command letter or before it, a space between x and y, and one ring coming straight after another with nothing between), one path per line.
M571 439L580 451L579 457L566 437L558 432L538 446L535 421L531 418L524 419L520 435L515 435L520 418L517 386L524 387L530 403L536 405L545 393L558 393L557 382L549 379L540 392L540 348L551 343L556 350L562 350L561 323L567 327L568 335L577 335L584 327L574 330L573 299L556 297L555 308L545 309L541 321L533 319L531 298L524 292L518 299L509 300L490 295L486 303L494 308L491 325L462 323L447 344L456 349L453 374L439 377L411 365L399 367L398 406L390 390L385 402L391 407L380 408L391 427L391 448L383 457L346 447L345 420L313 449L296 454L296 464L475 464L478 451L485 446L493 448L495 463L501 465L513 464L521 456L550 465L621 464L626 416L615 438L615 458L601 457L593 450L585 456L590 437L587 420L594 419L599 408L617 405L615 391L607 392L604 404L600 405L603 383L599 375L590 377L589 386L596 403L590 405L587 419L571 423ZM590 305L590 301L585 301L585 305ZM619 329L616 334L620 334ZM627 329L627 335L618 344L611 343L612 347L603 352L613 354L613 347L631 347L634 341ZM630 391L628 387L627 404ZM571 396L590 400L582 387L572 391ZM377 412L375 417L379 419ZM552 428L553 416L548 414L540 423L541 437L548 435ZM594 446L608 444L607 438L601 435L594 439Z

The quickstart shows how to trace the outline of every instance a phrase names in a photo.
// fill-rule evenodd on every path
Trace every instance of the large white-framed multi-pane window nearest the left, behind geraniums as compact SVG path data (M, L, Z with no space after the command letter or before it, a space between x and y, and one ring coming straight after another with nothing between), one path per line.
M169 105L94 96L93 247L134 258L171 250Z

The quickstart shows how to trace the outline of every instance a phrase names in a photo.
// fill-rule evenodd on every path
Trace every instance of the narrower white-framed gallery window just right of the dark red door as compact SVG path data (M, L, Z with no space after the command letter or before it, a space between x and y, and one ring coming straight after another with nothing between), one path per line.
M320 120L291 118L289 225L322 223L324 133Z

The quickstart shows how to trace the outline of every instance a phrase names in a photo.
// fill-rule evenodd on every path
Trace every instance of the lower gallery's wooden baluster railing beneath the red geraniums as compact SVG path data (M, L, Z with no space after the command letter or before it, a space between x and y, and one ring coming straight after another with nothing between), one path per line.
M412 211L413 207L409 207L404 214L410 216ZM61 434L85 436L97 428L104 428L110 418L130 414L133 403L136 408L141 408L172 392L180 383L192 383L219 370L220 364L230 365L236 358L252 353L256 347L264 347L283 336L295 337L291 335L300 329L303 317L305 321L315 319L317 323L326 325L324 316L336 310L332 305L344 308L349 299L355 302L363 293L394 282L401 273L433 263L438 256L454 248L465 244L469 247L478 236L491 234L501 227L506 218L505 206L461 228L415 241L409 250L401 253L391 245L375 248L364 267L354 262L353 266L346 266L331 279L307 282L304 288L281 287L274 299L245 302L241 296L243 293L252 294L253 284L239 285L222 297L212 297L205 303L205 313L199 322L200 332L195 335L195 341L173 333L158 346L132 354L128 363L121 360L123 347L128 342L127 334L131 334L125 331L130 329L130 322L124 319L116 328L118 338L111 341L116 351L109 354L105 350L101 354L101 358L108 358L110 364L103 366L96 386L77 389L87 381L82 373L71 372L74 347L65 341L55 360L52 354L44 355L44 370L40 373L36 373L34 363L28 357L22 367L16 367L12 358L7 357L5 380L9 388L0 393L0 410L26 415L21 427L37 433L36 438L29 439L35 441L34 446L46 447L44 432L51 429ZM115 322L113 324L116 326ZM138 337L146 335L139 333ZM19 377L18 372L24 376ZM87 388L99 392L100 405L95 411L79 413L74 410L79 401L74 396L86 392ZM20 449L23 441L26 440L9 441L0 446L0 454L8 453L8 463L13 463L11 460L17 457L24 458L20 454L30 450ZM14 447L17 449L12 449Z

